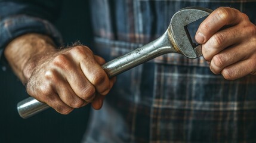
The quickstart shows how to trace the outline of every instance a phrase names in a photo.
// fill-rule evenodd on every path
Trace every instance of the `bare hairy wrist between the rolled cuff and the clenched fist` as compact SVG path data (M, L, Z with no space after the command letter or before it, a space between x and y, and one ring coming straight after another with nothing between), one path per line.
M14 73L25 84L36 64L55 50L54 42L48 36L29 33L11 41L4 54Z

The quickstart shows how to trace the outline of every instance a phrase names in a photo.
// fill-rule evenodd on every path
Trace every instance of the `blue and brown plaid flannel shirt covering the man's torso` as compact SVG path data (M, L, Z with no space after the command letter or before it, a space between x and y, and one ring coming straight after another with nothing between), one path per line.
M93 48L107 61L161 36L172 15L184 7L233 7L256 22L256 1L91 0L90 4ZM39 21L44 23L43 19ZM45 30L58 37L54 27ZM213 74L203 57L162 55L118 76L103 108L92 111L83 141L256 142L255 85L255 76L229 81Z

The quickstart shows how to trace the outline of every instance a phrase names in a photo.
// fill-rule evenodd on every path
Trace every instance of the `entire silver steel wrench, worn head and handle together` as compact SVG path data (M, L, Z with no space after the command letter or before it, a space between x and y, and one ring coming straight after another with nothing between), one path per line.
M102 67L109 77L116 76L132 67L138 66L159 55L176 52L187 58L197 58L202 55L201 45L192 43L187 25L209 15L212 10L199 7L183 8L173 15L168 29L158 39L122 55ZM17 110L24 119L39 113L49 106L35 100L33 97L18 102Z

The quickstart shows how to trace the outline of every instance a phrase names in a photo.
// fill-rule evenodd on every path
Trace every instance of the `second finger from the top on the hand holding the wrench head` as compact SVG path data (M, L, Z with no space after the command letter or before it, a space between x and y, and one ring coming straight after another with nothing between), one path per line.
M214 55L229 46L242 42L245 37L247 37L246 30L237 26L221 30L202 45L203 57L206 61L211 61Z

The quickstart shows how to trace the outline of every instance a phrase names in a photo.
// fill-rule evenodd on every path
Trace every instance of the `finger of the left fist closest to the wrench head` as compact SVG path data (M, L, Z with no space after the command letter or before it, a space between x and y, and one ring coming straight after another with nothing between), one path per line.
M80 67L84 75L94 85L96 91L101 95L106 95L110 90L109 77L102 69L100 64L97 63L92 52L88 48L78 47L76 49L78 61L80 62Z

